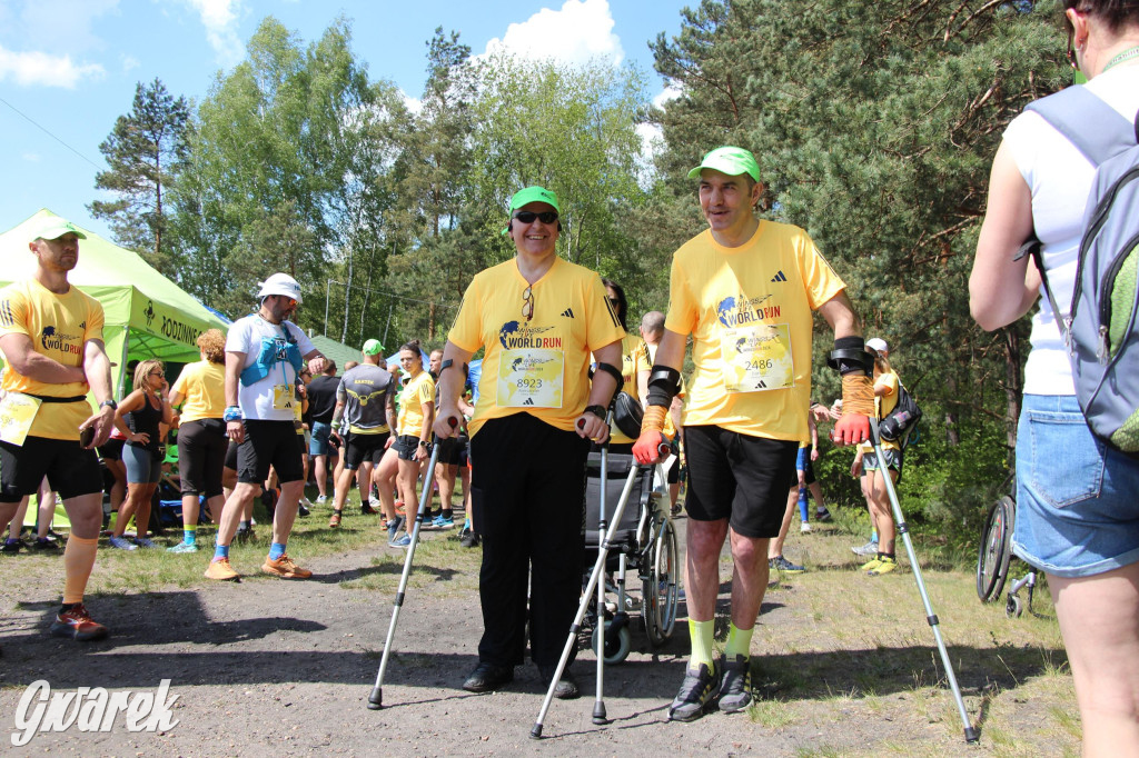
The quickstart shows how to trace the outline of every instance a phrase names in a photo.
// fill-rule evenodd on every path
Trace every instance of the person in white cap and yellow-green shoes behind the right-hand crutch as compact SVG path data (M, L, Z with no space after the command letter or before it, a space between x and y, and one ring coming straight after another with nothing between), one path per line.
M886 357L888 348L886 340L872 337L866 340L866 352L874 356L874 405L878 420L885 419L898 404L898 388L901 381ZM890 496L886 493L885 477L890 472L891 481L896 483L902 473L901 440L882 440L883 460L874 450L870 440L858 446L851 475L861 477L862 495L866 497L870 521L878 535L878 549L875 557L863 563L859 570L870 576L890 574L898 568L894 554L894 517L890 512Z

